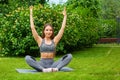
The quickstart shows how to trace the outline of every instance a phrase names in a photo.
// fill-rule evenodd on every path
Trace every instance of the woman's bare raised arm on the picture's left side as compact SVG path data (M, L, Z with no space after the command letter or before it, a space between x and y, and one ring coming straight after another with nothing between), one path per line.
M33 11L33 6L30 6L30 26L31 26L33 37L34 37L34 39L36 40L36 42L38 43L38 46L39 46L41 44L42 38L38 35L38 33L35 29L34 22L33 22L32 11Z

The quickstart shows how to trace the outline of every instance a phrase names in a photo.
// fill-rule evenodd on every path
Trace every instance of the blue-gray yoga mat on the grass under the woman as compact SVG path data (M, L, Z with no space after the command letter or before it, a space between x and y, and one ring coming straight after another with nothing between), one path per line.
M37 70L34 69L16 69L16 71L18 73L37 73ZM60 71L64 71L64 72L69 72L69 71L73 71L72 68L69 67L63 67Z

